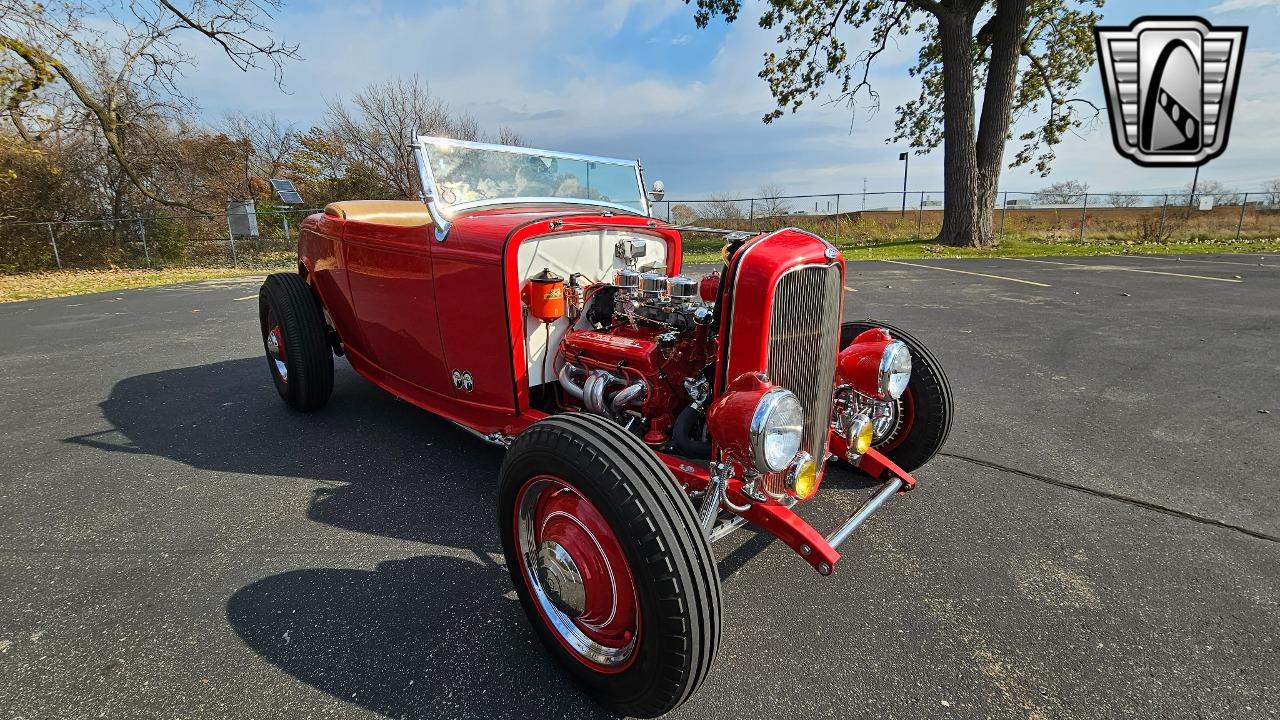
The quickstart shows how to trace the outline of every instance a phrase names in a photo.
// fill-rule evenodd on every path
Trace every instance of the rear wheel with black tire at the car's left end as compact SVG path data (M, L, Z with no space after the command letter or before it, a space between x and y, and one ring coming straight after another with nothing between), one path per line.
M306 281L296 273L268 275L257 313L266 365L280 397L302 413L323 407L333 392L333 348Z

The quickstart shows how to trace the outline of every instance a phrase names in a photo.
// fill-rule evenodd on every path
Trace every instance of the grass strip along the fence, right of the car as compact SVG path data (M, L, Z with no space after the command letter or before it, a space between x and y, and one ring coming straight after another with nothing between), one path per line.
M867 243L854 238L827 236L846 260L919 260L924 258L1030 258L1078 255L1192 255L1203 252L1280 252L1280 237L1199 242L1134 242L1085 240L1084 242L1044 241L1007 236L997 247L948 247L928 240L890 240ZM719 263L719 238L691 238L685 243L685 263Z

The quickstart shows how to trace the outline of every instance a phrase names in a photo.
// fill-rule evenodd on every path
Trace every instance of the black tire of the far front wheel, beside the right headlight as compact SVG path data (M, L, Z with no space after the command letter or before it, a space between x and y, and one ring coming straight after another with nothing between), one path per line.
M942 364L923 342L888 323L878 320L845 323L840 329L840 346L849 346L855 337L872 328L884 328L893 340L902 341L911 351L911 380L899 398L901 418L897 430L872 446L910 473L932 460L951 433L951 383L942 370Z

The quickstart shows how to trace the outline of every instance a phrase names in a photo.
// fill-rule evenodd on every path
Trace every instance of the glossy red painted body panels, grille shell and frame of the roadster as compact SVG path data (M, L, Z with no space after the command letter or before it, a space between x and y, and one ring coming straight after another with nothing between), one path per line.
M357 373L481 436L512 437L548 415L530 405L521 361L524 305L516 252L524 240L586 225L628 228L666 242L668 274L681 270L681 233L675 227L582 210L568 204L481 210L458 218L448 242L433 242L429 224L348 218L339 204L303 222L298 272L320 297ZM781 274L796 265L833 263L841 268L844 287L844 258L829 258L832 250L799 229L756 236L744 245L733 283L719 288L732 307L733 327L728 343L718 348L723 363L716 396L733 378L768 365L769 309ZM754 292L744 292L748 287ZM882 346L872 342L845 356L878 359ZM458 368L471 373L472 391L449 382ZM730 423L746 428L749 413L739 410ZM831 446L842 454L846 441L832 433ZM692 492L707 488L707 468L664 452L658 456ZM908 471L874 448L861 455L859 468L874 478L900 479L901 492L915 486ZM790 502L753 502L740 478L728 480L727 496L749 507L740 514L745 520L783 541L819 573L833 571L840 552Z

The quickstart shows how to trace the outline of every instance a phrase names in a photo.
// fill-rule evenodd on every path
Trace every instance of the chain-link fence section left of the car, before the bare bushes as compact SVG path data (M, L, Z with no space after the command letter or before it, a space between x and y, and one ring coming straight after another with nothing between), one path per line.
M0 270L275 268L297 258L314 209L259 210L257 233L233 234L227 215L161 215L0 225Z

